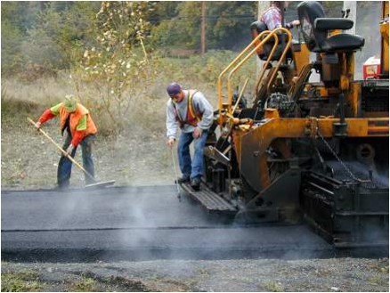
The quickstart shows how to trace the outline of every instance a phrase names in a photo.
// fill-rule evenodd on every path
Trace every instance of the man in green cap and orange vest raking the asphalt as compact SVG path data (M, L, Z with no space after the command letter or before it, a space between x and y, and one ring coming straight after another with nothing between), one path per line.
M56 116L60 118L62 136L66 131L62 149L74 158L77 146L81 144L83 167L90 175L94 175L92 145L96 140L97 128L89 110L77 102L73 94L68 94L63 102L45 110L36 123L37 128L39 129L46 121ZM57 183L60 190L69 187L71 168L72 162L61 154L57 170ZM94 183L93 179L85 175L85 184L91 183Z

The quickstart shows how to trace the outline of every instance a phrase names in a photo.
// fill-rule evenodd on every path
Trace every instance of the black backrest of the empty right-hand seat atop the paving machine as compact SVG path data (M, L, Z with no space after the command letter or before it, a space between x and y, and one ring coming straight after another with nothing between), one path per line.
M325 17L322 5L316 1L304 1L297 6L305 43L310 51L317 51L319 44L328 37L327 31L314 29L314 21Z

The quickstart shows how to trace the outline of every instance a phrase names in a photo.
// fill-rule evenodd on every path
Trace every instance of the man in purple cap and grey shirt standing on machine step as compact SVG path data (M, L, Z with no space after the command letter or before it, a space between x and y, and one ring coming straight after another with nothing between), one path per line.
M181 129L177 146L182 177L178 183L191 183L199 191L203 175L203 149L207 131L214 121L213 107L206 97L197 90L184 90L182 85L171 83L167 86L170 99L167 102L167 145L173 147L178 129ZM191 159L190 144L194 141L194 155Z

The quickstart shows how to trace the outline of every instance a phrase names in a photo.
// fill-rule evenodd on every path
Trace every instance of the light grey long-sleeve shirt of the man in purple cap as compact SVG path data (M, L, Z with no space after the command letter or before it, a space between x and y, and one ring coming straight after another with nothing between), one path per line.
M167 102L167 138L176 138L179 129L179 122L176 120L175 109L178 111L181 118L185 119L187 117L189 91L183 90L183 92L183 101L175 103L175 107L172 99L169 99ZM202 130L210 128L214 121L214 110L202 93L196 92L193 94L192 107L195 112L202 114L202 118L198 122L197 127ZM182 131L183 133L191 133L194 129L194 126L184 124Z

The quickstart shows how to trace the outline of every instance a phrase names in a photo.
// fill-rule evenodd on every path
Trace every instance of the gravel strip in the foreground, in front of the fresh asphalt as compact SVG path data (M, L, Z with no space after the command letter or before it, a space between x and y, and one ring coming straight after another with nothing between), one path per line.
M388 291L388 259L219 260L12 264L35 272L41 291ZM78 287L77 287L78 286Z

